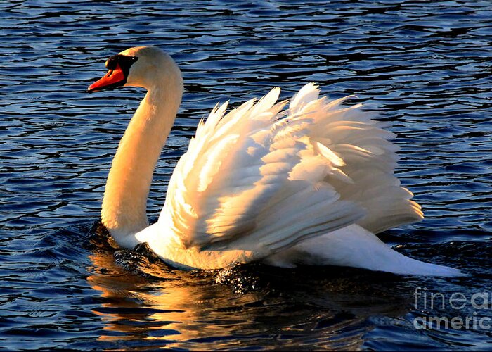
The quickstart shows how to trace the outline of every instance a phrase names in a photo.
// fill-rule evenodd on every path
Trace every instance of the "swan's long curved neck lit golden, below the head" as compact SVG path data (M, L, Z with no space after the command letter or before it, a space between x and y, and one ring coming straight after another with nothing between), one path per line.
M106 182L101 220L120 246L132 248L134 234L148 227L147 198L155 164L181 103L181 77L174 87L156 85L131 118Z

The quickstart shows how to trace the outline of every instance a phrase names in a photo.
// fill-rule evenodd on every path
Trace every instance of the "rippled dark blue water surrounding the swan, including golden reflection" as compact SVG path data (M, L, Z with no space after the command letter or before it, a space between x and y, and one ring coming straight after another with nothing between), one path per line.
M492 350L491 4L488 1L3 1L0 4L0 348ZM141 89L86 94L106 58L155 44L179 63L183 105L157 167L169 176L216 101L304 82L357 94L394 122L403 184L426 219L382 234L461 279L245 265L180 272L98 227L105 177ZM415 291L441 293L415 304ZM448 298L465 295L459 309ZM417 298L422 298L418 296ZM418 320L420 319L420 320ZM487 320L484 320L486 322Z

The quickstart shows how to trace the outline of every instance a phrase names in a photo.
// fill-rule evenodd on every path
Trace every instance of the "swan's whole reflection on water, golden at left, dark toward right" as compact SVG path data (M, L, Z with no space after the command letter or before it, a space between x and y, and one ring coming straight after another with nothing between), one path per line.
M93 312L106 322L100 341L148 341L154 348L289 348L309 331L311 348L361 348L372 329L369 316L400 319L413 301L410 289L393 275L348 270L347 277L346 269L264 265L183 272L125 252L90 256L88 282L103 298Z

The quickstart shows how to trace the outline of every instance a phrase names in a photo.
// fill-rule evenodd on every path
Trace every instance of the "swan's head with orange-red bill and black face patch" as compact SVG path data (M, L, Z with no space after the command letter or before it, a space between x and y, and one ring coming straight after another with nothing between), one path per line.
M94 92L115 87L173 87L183 85L181 72L168 54L156 46L136 46L111 56L108 73L87 89Z

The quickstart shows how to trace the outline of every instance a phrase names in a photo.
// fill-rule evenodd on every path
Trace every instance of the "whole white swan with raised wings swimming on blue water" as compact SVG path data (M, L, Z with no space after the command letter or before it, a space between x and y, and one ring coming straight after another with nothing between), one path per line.
M318 99L306 84L277 103L279 88L226 113L216 106L173 172L159 220L148 224L153 169L181 103L181 72L140 46L106 61L89 91L147 89L108 175L102 222L120 246L149 246L178 268L344 265L403 275L460 275L403 256L374 233L423 218L394 176L397 146L382 122L349 97Z

